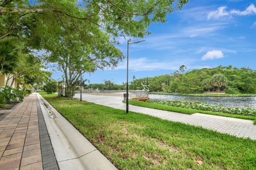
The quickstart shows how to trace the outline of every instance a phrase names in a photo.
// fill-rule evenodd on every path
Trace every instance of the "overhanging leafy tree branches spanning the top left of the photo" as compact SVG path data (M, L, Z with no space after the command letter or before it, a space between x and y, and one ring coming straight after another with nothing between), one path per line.
M66 25L73 25L74 32L82 33L81 24L87 28L97 25L114 36L142 37L149 33L146 28L150 23L165 22L168 13L181 10L186 3L187 0L4 0L0 4L0 39L31 36L38 40L42 33L54 35Z

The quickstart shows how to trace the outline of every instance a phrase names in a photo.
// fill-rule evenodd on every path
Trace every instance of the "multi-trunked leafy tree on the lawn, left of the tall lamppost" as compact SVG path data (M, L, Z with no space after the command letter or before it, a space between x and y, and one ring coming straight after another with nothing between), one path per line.
M67 29L69 29L67 27ZM122 60L121 51L109 41L105 32L95 28L87 39L80 40L73 35L73 43L70 43L65 32L59 35L59 43L49 47L49 55L45 55L47 62L56 63L58 69L64 74L65 95L73 97L73 90L79 79L79 72L94 72L106 67L115 67Z

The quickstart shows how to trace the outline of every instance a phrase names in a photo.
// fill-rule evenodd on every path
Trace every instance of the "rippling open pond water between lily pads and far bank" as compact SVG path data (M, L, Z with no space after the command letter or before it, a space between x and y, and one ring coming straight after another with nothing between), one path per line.
M225 107L256 108L256 97L202 97L202 96L183 96L183 95L157 95L149 94L150 99L172 100L172 101L201 101L208 104L221 104Z

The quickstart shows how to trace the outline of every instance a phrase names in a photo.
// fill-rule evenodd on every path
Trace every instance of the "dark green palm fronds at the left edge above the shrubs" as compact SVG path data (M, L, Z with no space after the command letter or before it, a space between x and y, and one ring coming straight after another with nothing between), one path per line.
M18 49L10 41L0 42L0 74L12 73L18 64Z

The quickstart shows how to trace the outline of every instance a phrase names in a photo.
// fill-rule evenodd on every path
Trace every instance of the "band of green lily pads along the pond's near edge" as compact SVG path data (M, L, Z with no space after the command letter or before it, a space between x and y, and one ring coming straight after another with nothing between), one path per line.
M199 101L191 102L191 101L170 101L170 100L147 100L146 102L174 106L174 107L196 109L201 111L212 111L212 112L221 112L221 113L228 113L228 114L256 116L255 108L223 107L221 105L210 105L210 104L202 103Z

